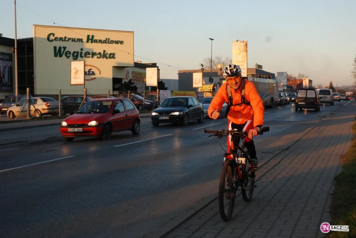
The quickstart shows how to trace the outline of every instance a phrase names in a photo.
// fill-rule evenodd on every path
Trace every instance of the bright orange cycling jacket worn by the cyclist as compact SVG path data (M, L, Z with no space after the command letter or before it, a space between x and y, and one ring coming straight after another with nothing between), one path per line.
M263 125L263 113L265 109L263 107L263 102L261 96L258 94L255 85L245 80L245 99L250 102L251 106L242 104L240 106L231 106L229 115L227 118L235 124L244 124L248 120L253 120L254 127L262 127ZM219 88L218 92L214 96L208 108L208 115L211 118L211 114L218 109L220 112L223 107L224 102L229 103L229 96L227 95L227 88L229 85L224 83ZM234 90L231 88L232 104L239 104L241 100L241 88Z

